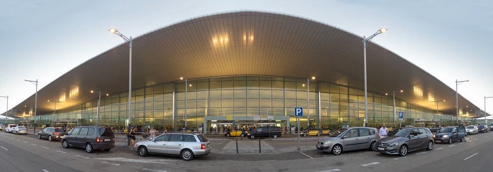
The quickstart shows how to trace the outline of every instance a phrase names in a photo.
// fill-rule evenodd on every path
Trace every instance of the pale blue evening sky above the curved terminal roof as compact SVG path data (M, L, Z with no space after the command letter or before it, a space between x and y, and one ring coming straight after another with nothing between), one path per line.
M138 36L216 12L266 10L327 23L357 35L389 30L372 42L421 67L484 110L493 96L492 0L2 0L0 96L9 108L79 64L122 43L107 31ZM453 101L453 100L451 100ZM487 100L493 113L493 98ZM6 99L0 98L0 113Z

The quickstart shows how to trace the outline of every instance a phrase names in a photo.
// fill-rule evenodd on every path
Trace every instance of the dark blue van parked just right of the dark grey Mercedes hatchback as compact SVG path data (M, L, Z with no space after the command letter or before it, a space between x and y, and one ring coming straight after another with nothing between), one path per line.
M467 132L464 127L444 127L433 135L435 143L446 142L452 144L454 141L465 142Z

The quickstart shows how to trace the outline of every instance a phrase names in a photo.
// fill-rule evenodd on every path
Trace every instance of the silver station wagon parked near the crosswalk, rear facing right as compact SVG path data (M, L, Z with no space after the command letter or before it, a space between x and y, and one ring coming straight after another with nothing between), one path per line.
M141 156L148 154L179 155L190 161L196 156L211 152L211 142L203 134L169 133L157 138L135 144L134 151Z

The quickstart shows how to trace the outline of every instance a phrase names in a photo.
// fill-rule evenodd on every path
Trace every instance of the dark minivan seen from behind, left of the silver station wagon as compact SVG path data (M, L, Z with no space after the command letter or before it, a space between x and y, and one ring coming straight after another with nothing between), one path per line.
M70 146L85 147L87 153L92 153L95 149L109 151L115 147L115 135L108 127L75 127L62 138L62 146L64 148L69 148Z

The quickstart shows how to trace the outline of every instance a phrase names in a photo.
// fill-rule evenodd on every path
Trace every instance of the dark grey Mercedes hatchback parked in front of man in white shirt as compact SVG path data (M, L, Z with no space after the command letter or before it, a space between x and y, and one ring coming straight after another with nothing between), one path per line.
M428 128L401 128L389 132L376 144L377 152L382 154L399 154L406 156L408 152L418 149L433 149L433 136Z

